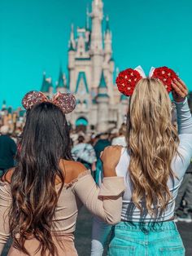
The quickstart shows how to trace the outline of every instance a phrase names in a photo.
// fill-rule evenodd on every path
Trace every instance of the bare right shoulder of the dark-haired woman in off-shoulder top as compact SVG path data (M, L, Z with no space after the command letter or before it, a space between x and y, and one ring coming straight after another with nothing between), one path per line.
M62 160L65 183L71 183L72 180L78 178L81 174L88 171L86 167L78 161Z

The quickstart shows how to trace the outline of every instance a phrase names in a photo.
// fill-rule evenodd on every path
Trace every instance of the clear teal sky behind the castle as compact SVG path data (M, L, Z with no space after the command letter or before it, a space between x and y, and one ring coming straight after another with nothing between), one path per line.
M192 1L103 0L120 70L141 64L173 68L192 90ZM42 72L55 82L67 72L70 24L85 25L91 0L0 1L0 104L20 106L40 90Z

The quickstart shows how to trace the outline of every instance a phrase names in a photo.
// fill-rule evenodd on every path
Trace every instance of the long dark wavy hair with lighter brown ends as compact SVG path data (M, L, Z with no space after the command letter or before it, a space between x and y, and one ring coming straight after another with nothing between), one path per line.
M64 183L59 161L72 159L68 123L62 110L47 102L29 110L20 148L11 178L10 228L14 245L29 255L24 242L33 235L40 241L41 256L46 252L56 255L51 231ZM56 178L61 181L59 192L55 189Z

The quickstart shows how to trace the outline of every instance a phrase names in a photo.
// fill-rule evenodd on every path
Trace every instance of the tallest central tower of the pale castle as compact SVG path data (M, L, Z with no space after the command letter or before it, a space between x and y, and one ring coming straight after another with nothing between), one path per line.
M90 55L92 57L92 89L97 90L103 68L103 1L92 2L92 31L90 43Z

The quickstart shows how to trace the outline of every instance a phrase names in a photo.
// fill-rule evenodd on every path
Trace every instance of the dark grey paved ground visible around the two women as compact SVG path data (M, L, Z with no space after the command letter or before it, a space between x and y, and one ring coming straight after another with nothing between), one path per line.
M91 220L88 211L82 209L76 227L76 249L79 256L89 256L90 254ZM192 256L192 223L178 223L177 227L185 245L185 256ZM7 243L2 256L7 256L9 244L10 242Z

